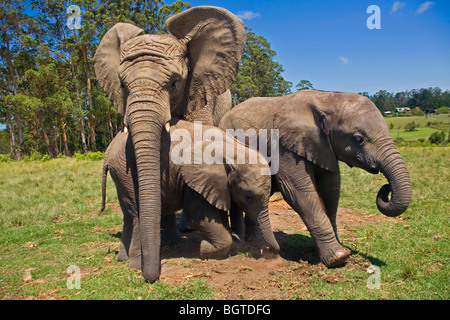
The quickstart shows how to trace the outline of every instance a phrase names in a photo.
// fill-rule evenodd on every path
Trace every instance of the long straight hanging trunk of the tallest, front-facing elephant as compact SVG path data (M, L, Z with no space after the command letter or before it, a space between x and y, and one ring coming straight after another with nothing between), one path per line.
M142 101L128 106L127 117L138 175L142 274L147 281L155 282L161 272L160 147L166 117L158 103Z

